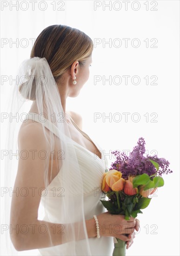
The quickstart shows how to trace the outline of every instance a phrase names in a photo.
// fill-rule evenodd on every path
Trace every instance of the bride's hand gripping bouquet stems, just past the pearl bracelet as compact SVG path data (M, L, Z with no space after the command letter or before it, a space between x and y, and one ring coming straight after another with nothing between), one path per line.
M124 215L105 212L98 215L97 218L100 225L100 236L113 236L123 241L133 239L132 234L136 227L136 220L133 217L130 217L130 220L127 221ZM129 236L126 236L126 234Z

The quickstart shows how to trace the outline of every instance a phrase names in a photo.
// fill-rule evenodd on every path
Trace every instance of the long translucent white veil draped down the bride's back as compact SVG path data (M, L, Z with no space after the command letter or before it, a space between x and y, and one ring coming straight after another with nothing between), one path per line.
M32 99L36 102L38 111L27 115L23 113L22 106ZM8 123L7 154L4 154L5 172L3 172L1 185L2 206L4 206L1 209L1 242L5 251L1 252L2 255L19 255L11 242L11 238L16 236L19 241L17 246L20 246L21 250L26 250L25 248L28 250L30 241L33 241L34 249L42 249L45 247L44 241L46 240L48 241L47 253L48 248L56 246L57 255L64 256L77 255L76 242L84 239L82 255L91 255L84 217L83 182L76 148L69 132L67 116L62 108L58 87L46 58L33 57L21 64L19 84L13 89L9 115L16 116L18 121L16 118ZM32 129L34 125L37 127L37 121L40 121L37 133L41 130L40 138L44 138L40 140L43 145L41 152L37 152L37 148L33 147L34 141L38 140L35 133L32 143L28 140L29 148L19 149L19 130L30 116L32 117L30 124ZM26 138L28 139L28 134L24 135L24 140ZM16 155L10 154L12 152ZM51 179L54 166L58 170L57 176ZM21 185L17 188L14 182L19 167L23 169L23 173L19 174ZM42 173L44 186L39 188L36 179ZM50 180L53 181L50 183ZM54 182L59 182L59 188L56 190ZM35 202L37 196L34 196L34 193L35 195L39 193L40 202L44 206L45 216L40 222L38 219L29 219L33 205L37 203ZM31 204L28 204L30 199ZM16 212L11 210L13 201L18 202ZM53 205L57 208L52 209ZM12 219L13 223L11 223ZM10 233L14 236L10 237ZM26 255L26 252L23 255Z

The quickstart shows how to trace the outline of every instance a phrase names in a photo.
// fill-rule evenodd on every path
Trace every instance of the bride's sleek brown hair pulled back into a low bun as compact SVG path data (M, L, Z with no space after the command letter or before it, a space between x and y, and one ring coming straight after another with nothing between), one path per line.
M74 61L79 61L79 65L83 66L92 52L93 41L84 32L66 25L51 25L37 37L30 57L46 58L53 77L58 82ZM34 97L35 88L32 88L28 99L34 100Z

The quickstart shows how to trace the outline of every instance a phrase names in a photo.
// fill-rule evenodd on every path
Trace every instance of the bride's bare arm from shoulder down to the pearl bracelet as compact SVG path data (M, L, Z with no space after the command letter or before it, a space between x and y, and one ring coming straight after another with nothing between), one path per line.
M48 136L48 133L47 133ZM66 236L68 232L68 224L51 223L38 220L38 209L40 205L41 194L40 188L45 188L44 172L46 169L46 159L40 159L38 154L34 154L32 159L32 151L47 150L46 139L42 132L42 126L37 124L28 124L22 128L18 137L19 150L27 150L28 158L19 159L18 172L13 190L20 191L26 188L27 196L16 196L13 193L11 204L10 226L12 227L10 236L16 250L40 249L71 241L70 236ZM33 190L31 188L37 188ZM40 189L40 190L39 190ZM24 225L24 229L22 228ZM40 226L46 227L47 232L39 232ZM15 229L14 229L15 228ZM22 230L22 231L21 231ZM28 232L26 233L26 230ZM44 230L44 229L43 229ZM87 221L88 237L96 234L93 232L93 219ZM25 234L26 233L26 234ZM79 237L83 239L83 237Z

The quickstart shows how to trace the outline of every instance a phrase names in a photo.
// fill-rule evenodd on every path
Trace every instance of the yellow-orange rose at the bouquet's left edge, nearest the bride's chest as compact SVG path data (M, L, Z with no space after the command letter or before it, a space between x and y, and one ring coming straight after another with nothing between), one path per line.
M102 182L102 190L109 191L110 188L113 191L120 191L124 187L125 180L122 177L121 172L117 170L110 170L104 174Z

